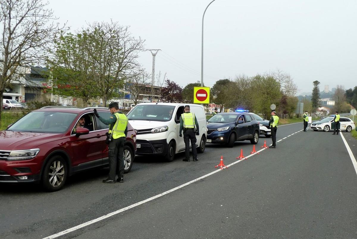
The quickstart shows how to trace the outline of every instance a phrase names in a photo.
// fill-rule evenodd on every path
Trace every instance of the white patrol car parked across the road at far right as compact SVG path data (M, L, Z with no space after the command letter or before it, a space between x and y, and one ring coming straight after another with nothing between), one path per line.
M334 117L326 117L323 120L313 122L311 124L311 129L313 131L323 130L328 132L335 128L335 123L332 122ZM340 117L340 130L345 130L346 132L351 132L351 130L355 128L355 122L353 122L350 118Z

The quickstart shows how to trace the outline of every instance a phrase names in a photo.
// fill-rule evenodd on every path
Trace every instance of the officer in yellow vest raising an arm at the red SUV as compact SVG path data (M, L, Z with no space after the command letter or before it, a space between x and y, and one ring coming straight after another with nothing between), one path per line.
M115 183L115 174L118 172L117 182L124 182L124 143L128 132L128 118L121 111L117 102L109 104L109 110L112 114L109 119L104 119L99 116L96 109L94 114L98 119L106 125L109 125L107 141L109 141L109 176L103 180L103 183Z

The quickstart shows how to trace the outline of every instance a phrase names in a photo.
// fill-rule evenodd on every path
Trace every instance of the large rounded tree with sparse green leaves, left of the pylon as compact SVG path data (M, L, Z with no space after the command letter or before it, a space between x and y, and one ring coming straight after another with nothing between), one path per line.
M106 106L108 100L118 96L124 81L142 75L136 59L138 52L144 50L144 40L131 36L128 26L112 21L94 22L68 37L69 40L62 38L57 42L55 57L50 62L73 92L82 91L77 93L83 95L85 91L87 97L94 93Z

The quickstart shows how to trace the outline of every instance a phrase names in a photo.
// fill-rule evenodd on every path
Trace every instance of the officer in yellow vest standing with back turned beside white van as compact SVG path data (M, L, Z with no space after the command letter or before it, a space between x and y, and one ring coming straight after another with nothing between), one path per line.
M196 132L195 132L196 126ZM190 106L185 106L185 113L181 115L180 118L180 137L182 137L183 129L183 141L185 142L185 158L182 161L190 162L190 141L192 146L192 157L193 161L198 161L197 159L197 149L196 149L196 135L200 135L200 130L198 128L198 121L194 113L190 112Z

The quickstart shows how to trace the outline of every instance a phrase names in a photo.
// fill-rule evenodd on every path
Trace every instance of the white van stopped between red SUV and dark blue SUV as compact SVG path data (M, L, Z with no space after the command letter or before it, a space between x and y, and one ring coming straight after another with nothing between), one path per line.
M140 103L127 117L136 131L136 154L164 156L169 162L175 153L185 151L183 136L179 136L180 117L185 105L196 115L200 135L197 137L197 152L206 148L207 122L203 106L183 103ZM199 145L198 145L199 144Z

